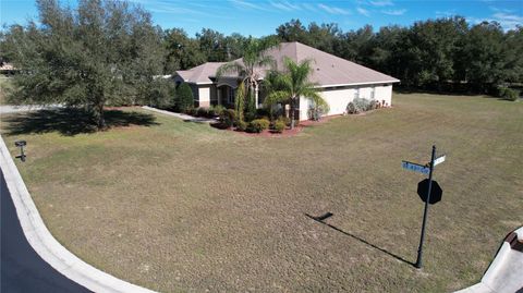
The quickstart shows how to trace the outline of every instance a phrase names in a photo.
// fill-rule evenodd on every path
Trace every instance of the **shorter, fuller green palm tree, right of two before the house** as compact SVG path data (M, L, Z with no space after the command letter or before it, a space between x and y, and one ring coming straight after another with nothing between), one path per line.
M309 81L313 69L311 66L312 60L303 60L300 63L292 61L290 58L283 59L285 71L283 73L272 71L265 82L269 95L264 103L271 107L275 103L290 103L291 111L289 118L291 119L291 130L294 129L294 112L300 97L309 99L316 109L324 109L328 111L328 103L316 90L316 84Z

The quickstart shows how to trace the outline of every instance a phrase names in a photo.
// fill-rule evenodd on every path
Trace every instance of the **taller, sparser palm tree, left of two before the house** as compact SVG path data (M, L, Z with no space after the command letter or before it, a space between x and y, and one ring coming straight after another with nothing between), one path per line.
M239 87L243 85L247 89L245 90L243 88L243 95L238 95L241 100L236 101L235 105L243 103L246 96L254 97L258 81L262 77L260 71L268 66L273 68L276 63L275 59L271 56L265 54L264 51L276 45L277 42L272 38L250 38L241 62L232 61L218 68L216 72L217 78L220 78L226 74L235 73L241 78ZM236 111L238 110L239 109L236 109Z

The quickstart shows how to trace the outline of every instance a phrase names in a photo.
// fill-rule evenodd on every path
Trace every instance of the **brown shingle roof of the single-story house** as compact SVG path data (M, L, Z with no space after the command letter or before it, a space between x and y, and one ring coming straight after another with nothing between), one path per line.
M282 42L280 46L271 48L265 53L275 58L278 70L283 70L284 57L290 58L296 63L306 59L313 60L312 68L314 71L311 80L321 87L399 82L399 80L392 76L297 41ZM242 62L242 59L235 61ZM209 76L215 76L218 68L224 63L226 62L207 62L191 70L177 71L177 73L187 83L211 83ZM260 71L262 77L265 76L266 69Z

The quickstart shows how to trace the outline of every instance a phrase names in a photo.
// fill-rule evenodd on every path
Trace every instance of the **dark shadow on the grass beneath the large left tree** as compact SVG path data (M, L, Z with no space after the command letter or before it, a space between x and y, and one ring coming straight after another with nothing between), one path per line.
M104 112L107 126L150 126L158 125L155 117L146 113L106 110ZM9 115L3 119L5 130L10 135L59 132L62 135L74 136L81 133L94 133L96 123L88 111L77 108L39 110Z

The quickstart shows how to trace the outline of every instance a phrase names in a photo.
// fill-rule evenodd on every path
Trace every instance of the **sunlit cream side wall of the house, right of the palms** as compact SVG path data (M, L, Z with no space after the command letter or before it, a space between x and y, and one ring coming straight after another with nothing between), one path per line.
M373 86L351 86L326 88L320 91L321 97L329 103L330 110L327 115L343 114L346 111L346 105L354 99L356 88L360 88L360 98L372 99ZM375 85L374 99L378 101L385 100L390 107L392 105L392 85ZM300 99L300 120L307 120L308 100Z

